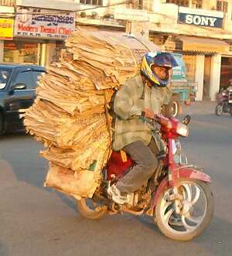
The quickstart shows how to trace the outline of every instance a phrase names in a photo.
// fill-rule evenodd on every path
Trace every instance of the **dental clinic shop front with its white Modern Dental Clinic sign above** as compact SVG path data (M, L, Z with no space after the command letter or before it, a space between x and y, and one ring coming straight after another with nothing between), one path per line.
M58 60L64 40L75 29L75 17L56 12L17 7L14 37L4 42L3 61L46 66Z

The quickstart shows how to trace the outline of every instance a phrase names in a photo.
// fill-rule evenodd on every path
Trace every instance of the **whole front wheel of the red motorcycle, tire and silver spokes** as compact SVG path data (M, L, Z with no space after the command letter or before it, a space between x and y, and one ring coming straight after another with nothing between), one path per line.
M199 180L183 179L178 184L180 212L170 200L172 188L168 187L159 196L155 207L155 222L159 229L178 241L189 241L200 235L210 224L213 217L213 193L210 183Z

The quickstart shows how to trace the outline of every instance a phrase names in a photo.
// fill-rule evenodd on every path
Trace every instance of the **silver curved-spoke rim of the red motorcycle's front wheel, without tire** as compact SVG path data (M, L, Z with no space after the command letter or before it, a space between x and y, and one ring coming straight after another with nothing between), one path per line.
M168 200L172 189L162 197L160 217L165 229L172 234L186 235L196 230L206 217L207 199L204 190L192 181L179 183L179 193L183 200L180 213L176 213L173 201Z

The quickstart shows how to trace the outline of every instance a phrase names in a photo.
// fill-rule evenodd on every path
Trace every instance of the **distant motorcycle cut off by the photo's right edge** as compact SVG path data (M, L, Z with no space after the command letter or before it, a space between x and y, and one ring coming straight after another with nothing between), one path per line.
M215 108L215 114L220 116L223 113L229 113L232 117L232 87L228 87L227 90L223 90L217 94L217 106Z

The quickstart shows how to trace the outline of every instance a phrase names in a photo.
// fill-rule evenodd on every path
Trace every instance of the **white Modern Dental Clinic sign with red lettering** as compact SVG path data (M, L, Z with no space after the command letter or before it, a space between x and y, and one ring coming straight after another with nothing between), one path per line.
M75 30L73 13L49 9L17 8L15 36L66 39Z

